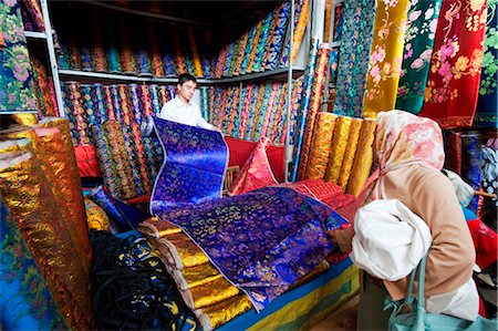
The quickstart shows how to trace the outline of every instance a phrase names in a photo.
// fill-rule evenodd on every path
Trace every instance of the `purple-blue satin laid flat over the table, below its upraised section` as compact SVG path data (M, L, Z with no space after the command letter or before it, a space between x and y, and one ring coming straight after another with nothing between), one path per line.
M345 224L320 201L283 187L266 187L184 209L154 210L158 219L180 226L230 282L251 298L257 310L332 250L325 224L330 228Z

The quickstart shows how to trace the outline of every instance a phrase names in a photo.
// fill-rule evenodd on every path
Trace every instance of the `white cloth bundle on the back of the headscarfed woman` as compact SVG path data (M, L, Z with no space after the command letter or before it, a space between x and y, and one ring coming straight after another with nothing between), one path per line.
M356 211L353 262L370 275L396 281L406 277L432 244L427 224L397 199L380 199Z

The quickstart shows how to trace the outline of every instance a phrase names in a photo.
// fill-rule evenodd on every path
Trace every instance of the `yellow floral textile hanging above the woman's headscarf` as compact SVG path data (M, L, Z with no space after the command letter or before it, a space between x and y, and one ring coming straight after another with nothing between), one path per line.
M363 117L395 107L409 0L377 1Z

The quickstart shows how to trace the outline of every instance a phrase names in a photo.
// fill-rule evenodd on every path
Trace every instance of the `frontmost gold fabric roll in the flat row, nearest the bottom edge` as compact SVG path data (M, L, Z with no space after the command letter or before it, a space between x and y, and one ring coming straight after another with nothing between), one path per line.
M196 314L204 330L212 330L249 311L251 308L251 300L246 294L240 293L219 303L196 310Z

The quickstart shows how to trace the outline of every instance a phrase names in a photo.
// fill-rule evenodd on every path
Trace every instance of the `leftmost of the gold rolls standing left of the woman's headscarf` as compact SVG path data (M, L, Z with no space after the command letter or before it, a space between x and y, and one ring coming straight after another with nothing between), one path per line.
M331 113L317 114L305 179L323 179L325 176L336 118L338 115Z

